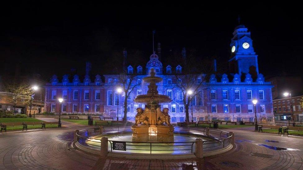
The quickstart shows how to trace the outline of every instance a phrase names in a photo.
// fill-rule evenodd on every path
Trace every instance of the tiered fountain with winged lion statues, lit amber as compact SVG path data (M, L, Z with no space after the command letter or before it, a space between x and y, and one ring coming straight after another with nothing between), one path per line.
M143 78L149 83L147 94L138 95L134 101L145 104L144 110L137 108L136 122L132 126L133 142L174 142L174 127L170 124L169 109L163 108L161 103L171 102L166 95L158 94L157 85L162 81L156 77L154 69L151 76Z

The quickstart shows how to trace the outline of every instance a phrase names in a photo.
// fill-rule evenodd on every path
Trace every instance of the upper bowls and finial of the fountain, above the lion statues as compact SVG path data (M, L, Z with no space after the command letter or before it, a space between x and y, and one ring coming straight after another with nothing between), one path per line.
M134 99L134 102L145 103L145 104L148 104L148 103L157 104L157 103L171 102L171 99L168 96L158 94L156 83L161 82L162 78L156 77L155 74L156 73L154 72L154 69L151 69L151 76L143 78L143 81L149 83L147 94L138 95Z

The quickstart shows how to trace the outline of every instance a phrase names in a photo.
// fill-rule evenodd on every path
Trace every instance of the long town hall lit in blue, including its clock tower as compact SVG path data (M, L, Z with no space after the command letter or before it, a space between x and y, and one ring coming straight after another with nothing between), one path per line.
M205 75L197 76L194 83L202 84L201 92L192 96L192 103L189 107L190 121L255 121L255 107L253 99L258 100L256 113L258 122L274 123L272 85L265 82L264 76L259 73L257 54L254 51L251 33L244 25L239 25L233 32L231 40L231 57L229 59L232 74L212 74L209 80L204 80ZM186 56L183 48L182 55ZM123 56L127 52L123 51ZM182 99L183 94L179 89L173 88L175 74L182 75L182 65L173 68L170 65L163 66L161 63L161 48L158 44L157 53L150 56L150 60L143 67L129 65L128 74L136 72L134 88L128 97L127 119L134 120L137 114L136 108L145 106L133 102L134 98L140 94L147 94L147 85L142 81L149 76L150 69L154 68L156 76L160 76L163 81L158 83L159 94L168 95L172 102L161 104L162 108L169 108L172 122L185 121L185 107ZM216 67L216 66L215 66ZM253 80L250 73L253 75ZM83 81L78 75L73 75L70 81L68 75L64 75L59 81L54 75L51 82L45 85L45 110L50 112L67 114L99 114L104 117L123 117L124 96L117 93L119 86L119 75L96 75L92 81L89 75L89 63ZM182 76L180 76L182 77ZM182 82L182 78L180 80ZM202 83L201 83L202 81ZM61 108L59 108L58 98L63 98ZM60 109L60 110L59 110ZM118 113L117 113L118 111ZM193 116L191 116L191 111Z

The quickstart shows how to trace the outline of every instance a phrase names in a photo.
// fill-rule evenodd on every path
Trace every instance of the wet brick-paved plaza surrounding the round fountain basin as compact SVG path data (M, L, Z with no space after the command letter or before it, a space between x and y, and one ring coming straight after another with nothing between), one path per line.
M303 169L303 137L298 136L257 133L252 132L253 128L228 129L235 133L236 146L227 153L204 159L99 158L70 147L74 130L85 126L62 124L68 128L0 133L0 170Z

